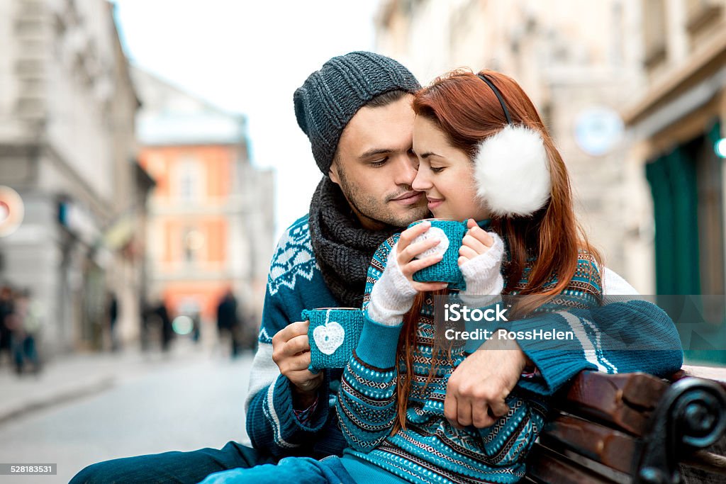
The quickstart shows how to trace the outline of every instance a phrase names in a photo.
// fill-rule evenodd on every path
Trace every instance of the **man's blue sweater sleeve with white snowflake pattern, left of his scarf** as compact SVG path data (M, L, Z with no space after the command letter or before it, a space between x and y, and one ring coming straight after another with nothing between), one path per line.
M327 372L318 404L303 423L293 411L290 381L272 361L272 337L287 324L299 321L303 309L339 305L323 281L310 241L308 216L303 216L282 234L270 263L258 348L245 402L247 432L255 448L282 458L340 454L346 446L333 411L340 370Z

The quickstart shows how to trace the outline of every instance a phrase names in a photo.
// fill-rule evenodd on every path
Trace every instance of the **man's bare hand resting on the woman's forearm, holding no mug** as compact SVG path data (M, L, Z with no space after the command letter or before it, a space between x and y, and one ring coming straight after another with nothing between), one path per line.
M505 398L527 358L515 340L487 340L454 370L446 384L444 416L454 427L489 427L509 411Z

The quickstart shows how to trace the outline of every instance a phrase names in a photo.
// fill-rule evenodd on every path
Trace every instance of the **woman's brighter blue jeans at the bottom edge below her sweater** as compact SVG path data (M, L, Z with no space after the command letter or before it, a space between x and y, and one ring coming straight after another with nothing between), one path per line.
M355 484L340 458L285 457L277 464L264 464L251 469L216 472L202 484Z

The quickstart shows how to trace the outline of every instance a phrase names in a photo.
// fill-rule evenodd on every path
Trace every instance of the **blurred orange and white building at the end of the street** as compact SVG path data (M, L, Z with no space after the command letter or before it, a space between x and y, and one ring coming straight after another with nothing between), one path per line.
M134 69L143 107L140 160L157 186L150 203L150 298L171 313L216 319L232 287L258 324L274 246L272 171L250 163L243 115Z

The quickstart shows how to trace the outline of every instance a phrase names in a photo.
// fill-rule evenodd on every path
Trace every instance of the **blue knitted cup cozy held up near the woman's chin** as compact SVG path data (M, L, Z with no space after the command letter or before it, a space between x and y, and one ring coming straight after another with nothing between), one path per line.
M409 225L414 226L422 221L416 221ZM413 275L416 282L448 282L452 289L465 289L464 276L459 269L459 248L467 231L466 222L453 220L429 220L431 229L425 231L416 240L428 239L436 237L441 239L439 245L432 249L426 250L419 255L419 258L428 257L428 255L436 255L444 251L444 258L440 262L428 266Z

